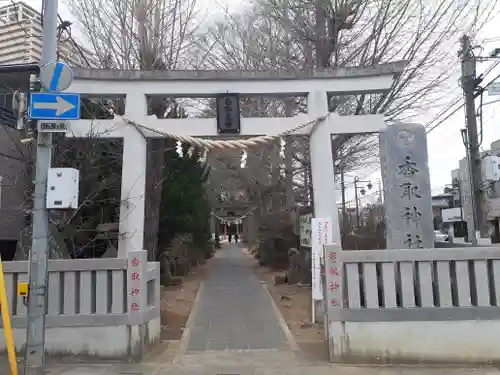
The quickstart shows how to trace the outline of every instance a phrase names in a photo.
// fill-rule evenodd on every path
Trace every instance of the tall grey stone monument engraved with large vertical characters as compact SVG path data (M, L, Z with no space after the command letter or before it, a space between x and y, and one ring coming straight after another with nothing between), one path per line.
M387 249L434 248L425 127L389 125L379 140Z

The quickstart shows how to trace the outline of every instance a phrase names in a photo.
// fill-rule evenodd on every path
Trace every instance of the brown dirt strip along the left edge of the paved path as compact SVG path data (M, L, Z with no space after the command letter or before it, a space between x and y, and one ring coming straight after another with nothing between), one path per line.
M161 292L161 324L162 341L180 340L182 332L193 306L200 284L205 280L214 261L214 255L204 265L198 266L189 276L183 279L182 284L162 287Z

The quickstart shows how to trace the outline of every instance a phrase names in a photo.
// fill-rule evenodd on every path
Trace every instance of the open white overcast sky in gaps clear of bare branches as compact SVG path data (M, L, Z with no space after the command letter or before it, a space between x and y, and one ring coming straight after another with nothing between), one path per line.
M41 0L26 0L28 4L40 9ZM0 0L0 4L8 3L7 0ZM217 0L216 4L218 7L214 6L214 1L209 0L198 0L198 6L201 13L209 12L213 14L217 12L217 9L222 9L224 6L228 6L230 10L237 10L241 7L241 1L238 0ZM249 4L250 1L245 1ZM60 14L63 18L71 19L71 14L67 8L60 2ZM210 10L210 11L209 11ZM493 48L500 47L500 31L498 31L498 23L500 22L500 17L487 25L487 27L478 35L475 40L476 44L481 44L484 47L482 55L487 55ZM456 40L456 50L459 48L459 41ZM478 65L478 73L485 71L493 61L482 62ZM459 64L457 58L457 66ZM500 64L495 69L493 69L486 77L485 82L490 82L497 75L500 75ZM455 85L456 92L450 96L449 103L455 102L457 99L461 98L461 90L458 87L458 75L456 77L456 82L451 82L451 85ZM499 79L500 81L500 79ZM485 95L484 102L499 100L499 97L488 97ZM462 101L460 101L460 104ZM456 108L453 107L453 108ZM484 134L483 134L483 144L482 149L487 150L490 147L491 142L500 139L500 102L495 104L486 105L483 110L483 120L484 120ZM446 112L446 115L451 111ZM443 117L446 117L443 116ZM427 124L433 120L433 116L429 115L427 118ZM435 122L434 122L435 123ZM442 192L444 185L451 183L450 172L451 170L458 168L459 159L465 156L465 148L462 144L460 129L465 125L464 122L464 111L459 109L454 115L445 120L441 125L439 125L435 130L433 130L428 136L428 150L429 150L429 165L431 171L431 186L433 194L438 194ZM371 168L366 171L358 173L358 176L362 179L369 179L373 181L376 185L377 179L380 178L378 172L373 173L375 168ZM353 176L350 176L352 180ZM349 180L349 179L348 179ZM353 191L348 192L348 199L352 199ZM366 200L369 201L373 197L369 197Z

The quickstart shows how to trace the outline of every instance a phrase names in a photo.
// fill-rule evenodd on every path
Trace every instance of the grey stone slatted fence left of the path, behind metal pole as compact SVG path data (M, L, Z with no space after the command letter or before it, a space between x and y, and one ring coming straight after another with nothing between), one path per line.
M127 259L73 259L49 261L47 327L114 326L129 322ZM5 284L14 328L26 327L26 300L17 295L19 282L28 281L28 262L4 262ZM137 270L140 293L146 293L140 320L159 316L158 263ZM137 320L135 320L137 322Z

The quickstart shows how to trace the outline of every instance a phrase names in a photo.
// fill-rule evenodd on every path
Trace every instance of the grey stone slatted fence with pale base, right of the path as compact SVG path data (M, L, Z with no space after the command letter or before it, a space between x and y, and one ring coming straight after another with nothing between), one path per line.
M332 361L500 360L500 248L325 251Z

